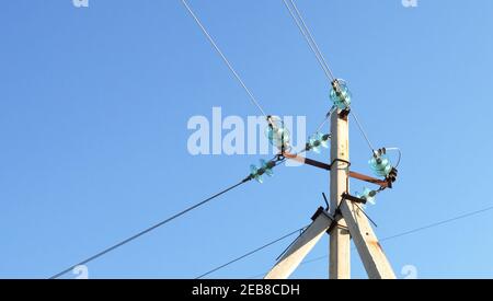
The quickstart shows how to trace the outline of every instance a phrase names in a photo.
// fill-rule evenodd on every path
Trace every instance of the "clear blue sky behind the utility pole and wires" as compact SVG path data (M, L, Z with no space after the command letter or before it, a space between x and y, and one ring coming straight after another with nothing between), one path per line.
M194 115L255 115L179 0L4 1L0 277L46 278L234 184L262 155L187 152ZM270 114L314 128L329 89L280 0L191 0ZM380 238L493 205L493 2L298 1L378 147L403 151L368 213ZM352 130L355 170L368 149ZM312 155L328 161L329 152ZM305 225L328 175L279 167L89 265L91 278L190 278ZM363 185L353 182L352 190ZM493 212L382 242L400 276L493 277ZM262 274L289 241L214 277ZM309 255L328 252L328 239ZM353 256L353 275L365 277ZM294 277L324 278L326 259ZM73 275L67 275L73 278Z

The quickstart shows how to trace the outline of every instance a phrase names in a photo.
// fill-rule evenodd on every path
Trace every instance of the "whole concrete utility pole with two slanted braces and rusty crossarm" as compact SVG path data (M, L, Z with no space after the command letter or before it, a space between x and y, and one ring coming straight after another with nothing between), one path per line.
M306 159L305 163L330 171L330 208L319 208L313 222L296 239L265 279L285 279L298 267L323 233L330 234L330 279L351 278L351 239L370 279L394 279L395 275L366 217L363 202L351 196L349 177L388 187L387 181L349 171L349 111L339 109L331 116L331 164ZM301 161L298 155L286 158Z

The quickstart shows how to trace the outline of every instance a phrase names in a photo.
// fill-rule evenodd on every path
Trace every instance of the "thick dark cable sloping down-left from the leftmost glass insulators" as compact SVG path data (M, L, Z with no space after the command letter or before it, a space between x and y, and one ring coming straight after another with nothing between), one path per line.
M131 241L134 241L134 240L140 238L141 235L144 235L144 234L146 234L146 233L148 233L148 232L150 232L150 231L152 231L152 230L154 230L154 229L157 229L157 228L159 228L159 227L161 227L161 225L163 225L163 224L165 224L165 223L168 223L168 222L170 222L170 221L172 221L172 220L174 220L174 219L176 219L176 218L179 218L179 217L181 217L181 216L183 216L183 215L185 215L186 212L188 212L188 211L191 211L191 210L193 210L193 209L195 209L195 208L197 208L197 207L199 207L199 206L202 206L202 205L205 205L206 202L208 202L208 201L210 201L210 200L213 200L213 199L215 199L215 198L217 198L217 197L219 197L219 196L221 196L221 195L228 193L229 190L234 189L236 187L238 187L238 186L240 186L240 185L242 185L242 184L249 182L250 180L252 180L251 176L249 176L249 177L242 180L242 181L241 181L240 183L238 183L238 184L234 184L234 185L232 185L232 186L230 186L230 187L228 187L228 188L226 188L226 189L223 189L223 190L221 190L221 192L215 194L214 196L211 196L211 197L209 197L209 198L204 199L204 200L200 201L200 202L197 202L196 205L194 205L194 206L192 206L192 207L188 207L187 209L185 209L185 210L183 210L183 211L181 211L181 212L179 212L179 213L176 213L176 215L174 215L174 216L172 216L172 217L170 217L170 218L168 218L168 219L165 219L165 220L163 220L163 221L161 221L161 222L156 223L156 224L152 225L152 227L147 228L147 229L144 230L144 231L138 232L137 234L135 234L135 235L133 235L133 236L130 236L130 238L128 238L128 239L126 239L126 240L123 240L122 242L119 242L119 243L117 243L117 244L115 244L115 245L113 245L113 246L111 246L111 247L105 248L104 251L101 251L100 253L98 253L98 254L95 254L95 255L92 255L91 257L89 257L89 258L87 258L87 259L83 259L82 262L80 262L80 263L78 263L78 264L74 264L74 265L72 265L72 266L70 266L70 267L68 267L68 268L66 268L66 269L64 269L62 271L60 271L60 273L58 273L58 274L51 276L49 279L56 279L56 278L60 277L61 275L64 275L64 274L66 274L66 273L68 273L68 271L70 271L70 270L72 270L76 266L79 266L79 265L85 265L85 264L88 264L88 263L90 263L90 262L92 262L92 261L94 261L94 259L96 259L96 258L99 258L99 257L101 257L101 256L103 256L103 255L105 255L105 254L107 254L107 253L114 251L115 248L121 247L121 246L123 246L123 245L125 245L125 244L127 244L127 243L129 243L129 242L131 242Z

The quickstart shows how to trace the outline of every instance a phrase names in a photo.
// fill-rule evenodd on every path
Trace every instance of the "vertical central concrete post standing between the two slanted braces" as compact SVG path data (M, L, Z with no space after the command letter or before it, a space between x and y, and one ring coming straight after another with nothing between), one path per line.
M349 124L347 114L337 109L331 116L330 213L335 224L330 231L329 278L351 278L351 235L339 210L341 196L349 193Z

